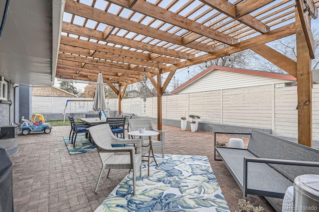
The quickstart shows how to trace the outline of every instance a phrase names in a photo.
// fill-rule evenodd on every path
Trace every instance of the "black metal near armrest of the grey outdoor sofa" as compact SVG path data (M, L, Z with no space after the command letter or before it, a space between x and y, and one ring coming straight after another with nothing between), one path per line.
M244 181L243 181L243 199L247 197L247 172L248 172L248 162L252 163L270 163L270 164L282 164L282 165L292 165L292 166L310 166L319 167L319 162L313 161L297 161L297 160L281 160L281 159L271 159L271 158L253 158L244 157Z

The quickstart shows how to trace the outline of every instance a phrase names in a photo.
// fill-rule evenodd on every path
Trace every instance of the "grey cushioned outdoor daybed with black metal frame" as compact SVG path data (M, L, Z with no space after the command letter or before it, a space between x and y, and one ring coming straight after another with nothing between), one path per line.
M250 135L247 149L216 146L218 133ZM215 132L215 160L217 155L242 190L243 199L247 194L264 196L276 211L281 209L268 197L283 199L297 176L319 174L319 150L257 130Z

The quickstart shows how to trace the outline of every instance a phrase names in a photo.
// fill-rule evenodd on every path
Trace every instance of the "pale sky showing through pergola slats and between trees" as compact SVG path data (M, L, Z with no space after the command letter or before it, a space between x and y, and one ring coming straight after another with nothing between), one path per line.
M148 0L148 1L154 3L153 1L156 1L156 0ZM80 0L80 2L90 5L91 2L92 2L92 0ZM165 3L166 1L162 1L162 2ZM167 1L167 2L170 2L170 1ZM111 12L114 11L114 14L115 14L115 13L118 11L118 6L117 6L117 5L114 5L114 4L112 4L112 6L113 6L114 8L113 8L112 10L109 9L108 11L111 11ZM160 6L165 7L165 5L160 5ZM176 4L175 6L178 8L179 5ZM96 7L101 8L101 9L104 9L104 8L105 8L105 1L103 1L103 0L97 0L97 2L96 2ZM173 8L171 8L170 10L173 10ZM187 12L187 11L184 11L184 12ZM199 11L199 12L200 12L200 11ZM256 12L258 12L258 10L257 10ZM122 16L122 14L125 14L125 12L121 13L121 16ZM139 17L137 16L137 17L135 17L135 18L138 19ZM190 18L191 18L191 17L190 17ZM70 14L67 14L67 13L64 13L63 20L70 22L70 19L71 19L71 15L70 15ZM82 24L83 24L83 20L84 20L84 18L78 17L78 18L75 18L75 19L74 19L73 23L82 25ZM145 21L147 21L147 20L145 20ZM95 25L95 23L94 23L93 21L92 21L92 23L90 23L90 22L88 21L88 23L86 24L86 27L90 27L89 24L92 25L92 28L93 28L94 25ZM317 18L317 19L312 19L312 20L311 20L311 25L312 25L312 28L316 28L316 29L319 30L319 18ZM106 26L105 24L104 24L104 25L103 25L103 24L100 24L100 25L99 25L100 28L98 27L97 29L103 31L104 28L105 28L105 26ZM62 34L63 34L63 33L62 33ZM76 36L76 37L77 37L77 36ZM268 44L268 45L269 45L269 44ZM241 68L243 68L243 67L241 67ZM184 83L184 82L186 82L186 81L188 80L188 78L187 78L187 75L188 75L188 74L187 74L187 73L188 73L188 72L191 73L191 72L194 71L194 70L198 71L195 66L191 66L191 67L189 67L189 68L182 68L182 69L176 70L175 75L174 75L175 80L178 80L179 83ZM162 81L164 81L167 76L168 76L168 73L163 74L163 75L162 75ZM170 85L168 85L168 88L167 88L169 91L172 90L172 81L173 81L173 79L170 81ZM56 78L56 79L55 79L55 86L59 87L59 83L60 83L60 82L59 82L59 79ZM74 85L77 89L82 89L82 91L83 91L84 87L85 87L87 84L83 84L83 83L73 83L73 85Z

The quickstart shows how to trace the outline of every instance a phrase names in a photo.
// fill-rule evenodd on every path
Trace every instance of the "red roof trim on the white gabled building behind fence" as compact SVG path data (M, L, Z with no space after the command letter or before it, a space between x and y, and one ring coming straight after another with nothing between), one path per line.
M195 77L191 78L175 90L173 90L171 93L174 94L178 92L179 90L185 88L195 80L201 78L203 75L207 74L211 70L222 70L222 71L230 71L230 72L237 72L237 73L243 73L243 74L251 74L251 75L258 75L258 76L263 76L263 77L272 77L272 78L277 78L277 79L283 79L283 80L292 80L292 81L297 81L297 79L291 75L286 75L286 74L277 74L277 73L272 73L272 72L263 72L263 71L253 71L253 70L247 70L247 69L238 69L238 68L230 68L230 67L224 67L224 66L210 66L208 69L205 71L199 73Z

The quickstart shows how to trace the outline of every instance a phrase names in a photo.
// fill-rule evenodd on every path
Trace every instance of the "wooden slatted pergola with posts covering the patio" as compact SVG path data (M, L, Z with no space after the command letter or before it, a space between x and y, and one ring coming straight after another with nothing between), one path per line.
M297 78L298 141L312 146L317 7L319 0L66 0L55 76L89 82L102 72L121 114L127 85L147 75L161 129L161 97L177 69L251 49ZM265 45L293 34L297 61Z

